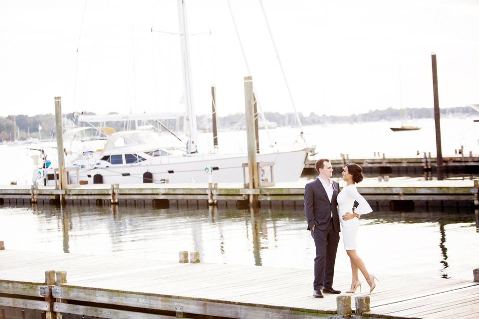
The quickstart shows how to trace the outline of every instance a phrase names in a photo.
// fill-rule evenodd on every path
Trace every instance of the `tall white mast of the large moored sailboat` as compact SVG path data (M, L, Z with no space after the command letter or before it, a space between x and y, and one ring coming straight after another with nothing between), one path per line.
M178 20L180 23L181 57L183 69L183 82L185 87L184 103L186 106L186 124L189 129L190 139L187 143L188 153L197 152L197 126L195 106L193 104L193 86L191 79L190 42L188 23L186 18L185 0L178 0Z

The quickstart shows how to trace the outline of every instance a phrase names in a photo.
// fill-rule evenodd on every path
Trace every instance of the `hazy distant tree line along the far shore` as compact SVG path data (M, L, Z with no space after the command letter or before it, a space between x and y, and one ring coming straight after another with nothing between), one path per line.
M94 115L92 112L83 112L85 115ZM114 113L111 113L114 114ZM441 109L441 114L451 117L458 116L474 116L478 115L474 109L470 107L456 107ZM77 123L77 116L75 113L65 114L65 117L74 125ZM265 112L264 117L269 122L274 122L277 126L297 126L296 115L294 113L281 114L278 112ZM433 118L434 112L432 108L408 108L403 110L403 119L422 119ZM398 109L389 108L386 110L374 110L363 114L352 115L320 115L311 112L309 115L299 114L299 118L303 125L316 125L316 124L335 124L335 123L357 123L357 122L375 122L382 120L400 120L401 112ZM239 128L238 123L244 121L243 114L232 114L219 118L219 126L222 130L230 130ZM14 123L15 122L15 123ZM198 126L205 130L211 130L212 119L211 115L201 115L197 117ZM178 128L178 123L181 123L183 127L183 118L178 120L166 120L163 121L168 128L175 130ZM38 138L38 127L41 126L41 137L50 138L54 137L55 132L55 116L53 114L39 114L34 116L27 115L8 115L6 117L0 117L0 142L16 140L27 140L28 138ZM124 129L123 122L108 123L109 127L114 128L117 131ZM16 133L14 132L16 128Z

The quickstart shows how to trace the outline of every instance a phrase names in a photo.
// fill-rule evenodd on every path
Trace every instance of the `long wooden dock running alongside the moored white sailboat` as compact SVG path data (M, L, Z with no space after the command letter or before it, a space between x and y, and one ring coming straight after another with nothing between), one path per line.
M215 184L93 184L66 190L54 187L21 185L0 186L0 203L55 203L62 196L71 205L120 204L131 206L220 207L247 205L248 196L257 195L261 207L302 206L306 181L277 183L259 189L243 188L239 183ZM341 184L340 184L341 185ZM392 209L415 206L471 207L479 205L479 180L420 180L391 178L389 181L364 180L359 192L371 206L389 205Z

